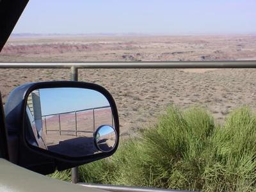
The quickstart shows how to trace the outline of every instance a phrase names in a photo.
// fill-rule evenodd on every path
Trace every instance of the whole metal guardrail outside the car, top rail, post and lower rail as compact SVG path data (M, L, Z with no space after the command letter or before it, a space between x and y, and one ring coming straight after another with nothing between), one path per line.
M140 62L73 62L73 63L0 63L0 68L70 68L71 80L78 80L78 68L256 68L253 61L140 61ZM78 168L72 168L72 182L78 182ZM87 184L83 184L86 186ZM123 188L111 185L89 185L108 191L141 191L145 188ZM104 188L103 188L104 186ZM147 189L149 190L149 189ZM143 192L150 192L150 191ZM164 189L152 189L164 191ZM170 191L170 190L169 190ZM173 190L171 190L173 191ZM175 191L175 190L174 190Z

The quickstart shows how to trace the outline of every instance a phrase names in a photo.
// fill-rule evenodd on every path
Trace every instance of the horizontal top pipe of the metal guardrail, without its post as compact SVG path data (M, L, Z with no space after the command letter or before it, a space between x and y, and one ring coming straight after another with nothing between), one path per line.
M70 63L0 63L0 68L256 68L248 61L140 61Z

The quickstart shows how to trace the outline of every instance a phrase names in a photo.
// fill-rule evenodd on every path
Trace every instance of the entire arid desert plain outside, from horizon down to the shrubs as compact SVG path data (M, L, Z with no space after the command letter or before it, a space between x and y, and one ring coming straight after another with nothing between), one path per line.
M256 60L256 35L12 37L1 62ZM1 65L1 63L0 63ZM0 69L4 102L19 84L70 79L66 69ZM223 122L232 109L256 109L256 69L79 69L79 81L106 87L122 136L154 122L170 104L204 106Z

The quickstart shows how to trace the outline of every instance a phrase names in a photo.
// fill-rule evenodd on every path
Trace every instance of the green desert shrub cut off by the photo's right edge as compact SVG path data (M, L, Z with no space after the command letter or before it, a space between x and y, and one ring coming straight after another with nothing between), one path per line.
M234 111L211 138L204 171L205 191L256 191L256 118Z

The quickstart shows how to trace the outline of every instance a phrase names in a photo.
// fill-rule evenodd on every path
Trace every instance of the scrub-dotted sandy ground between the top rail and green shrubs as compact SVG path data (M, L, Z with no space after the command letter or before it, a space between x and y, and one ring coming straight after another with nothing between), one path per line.
M68 80L69 70L1 69L4 102L19 84L31 81ZM256 109L256 70L218 69L204 73L179 69L80 69L79 81L101 84L118 106L122 134L129 134L159 115L169 104L182 108L200 105L218 120L237 106Z

